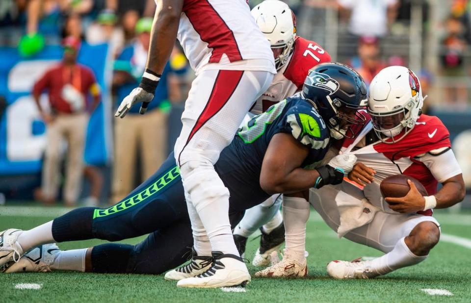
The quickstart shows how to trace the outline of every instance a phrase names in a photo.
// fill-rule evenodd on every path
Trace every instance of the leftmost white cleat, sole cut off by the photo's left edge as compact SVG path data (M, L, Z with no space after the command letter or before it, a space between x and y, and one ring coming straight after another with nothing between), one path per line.
M18 243L21 229L9 228L0 232L0 273L3 273L23 255L23 249Z

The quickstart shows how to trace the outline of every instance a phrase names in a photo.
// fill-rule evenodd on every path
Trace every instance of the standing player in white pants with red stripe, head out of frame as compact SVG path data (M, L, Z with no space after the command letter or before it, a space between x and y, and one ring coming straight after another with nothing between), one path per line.
M140 113L145 113L178 39L196 78L185 102L175 160L182 174L195 249L206 255L223 252L219 263L224 264L204 278L179 285L205 287L213 280L231 286L250 275L235 247L227 216L229 190L214 164L253 100L276 74L273 53L246 1L155 1L146 70L139 87L124 98L115 116L124 118L135 103L141 103Z

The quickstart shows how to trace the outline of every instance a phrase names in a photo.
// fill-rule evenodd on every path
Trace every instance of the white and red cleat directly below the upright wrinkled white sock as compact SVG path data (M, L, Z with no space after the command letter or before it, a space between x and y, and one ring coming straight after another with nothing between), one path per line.
M304 257L304 254L298 257L285 250L285 254L281 261L277 252L272 252L270 259L272 266L255 273L255 277L306 278L308 276L307 260L306 257Z

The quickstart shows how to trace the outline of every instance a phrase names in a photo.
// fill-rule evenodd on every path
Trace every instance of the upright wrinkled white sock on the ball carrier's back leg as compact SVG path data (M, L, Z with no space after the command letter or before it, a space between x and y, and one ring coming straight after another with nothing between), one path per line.
M283 219L285 221L285 247L298 262L304 260L306 251L306 223L309 219L310 204L304 198L283 198Z

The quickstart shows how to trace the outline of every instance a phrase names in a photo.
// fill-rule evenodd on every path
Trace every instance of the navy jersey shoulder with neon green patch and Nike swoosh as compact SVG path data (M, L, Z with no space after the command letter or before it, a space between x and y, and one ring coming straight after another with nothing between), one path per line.
M300 97L288 98L284 129L300 143L312 149L328 146L330 133L312 104Z

